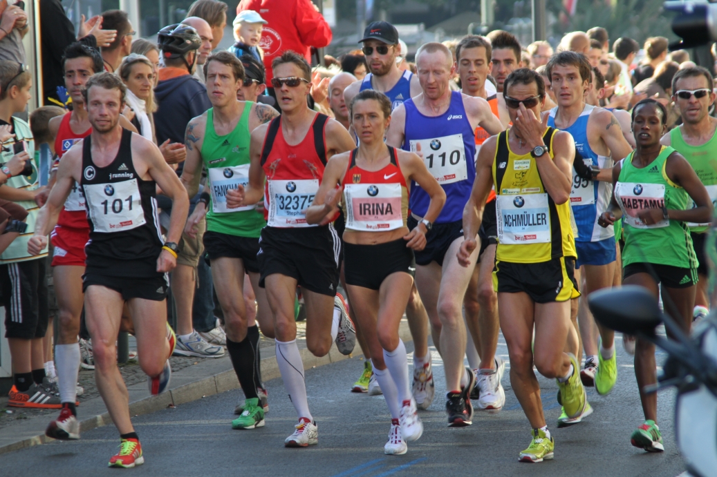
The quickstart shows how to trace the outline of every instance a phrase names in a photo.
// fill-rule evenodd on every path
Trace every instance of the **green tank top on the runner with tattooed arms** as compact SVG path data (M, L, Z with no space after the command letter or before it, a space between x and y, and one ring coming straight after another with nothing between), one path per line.
M206 133L201 158L209 175L212 200L206 213L206 230L240 237L257 238L266 225L264 214L256 206L227 208L227 191L249 183L249 112L252 102L244 103L244 112L234 130L223 136L214 130L214 108L206 112Z

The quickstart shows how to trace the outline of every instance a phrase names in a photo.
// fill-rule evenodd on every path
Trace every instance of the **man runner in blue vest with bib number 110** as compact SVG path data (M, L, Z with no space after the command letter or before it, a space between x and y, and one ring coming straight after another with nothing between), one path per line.
M475 179L474 131L480 126L493 135L500 133L503 125L483 98L451 92L448 82L455 65L444 45L424 44L416 53L416 65L422 92L394 110L386 143L422 155L447 196L433 226L423 218L429 203L427 193L411 184L408 226L427 231L426 247L416 251L416 285L432 323L441 325L439 347L449 390L446 410L449 424L457 427L470 425L473 420L470 392L475 375L470 367L463 367L466 336L462 302L478 249L468 267L458 264L456 254L463 240L463 208Z

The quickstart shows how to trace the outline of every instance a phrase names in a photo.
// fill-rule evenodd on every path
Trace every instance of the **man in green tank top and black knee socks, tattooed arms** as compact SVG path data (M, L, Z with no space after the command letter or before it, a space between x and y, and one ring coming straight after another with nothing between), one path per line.
M186 162L181 180L191 196L199 188L201 170L209 171L207 188L187 219L185 233L196 236L206 214L204 249L212 264L212 279L227 329L227 350L246 400L237 405L241 414L232 428L253 429L264 425L268 410L266 392L259 372L259 329L242 293L244 273L249 274L257 299L256 321L265 336L274 337L272 314L265 289L259 287L259 234L266 225L258 204L227 208L226 194L249 175L251 132L278 113L269 106L237 100L244 81L244 67L229 52L206 59L206 92L212 109L189 121L186 127ZM177 337L179 342L179 337Z

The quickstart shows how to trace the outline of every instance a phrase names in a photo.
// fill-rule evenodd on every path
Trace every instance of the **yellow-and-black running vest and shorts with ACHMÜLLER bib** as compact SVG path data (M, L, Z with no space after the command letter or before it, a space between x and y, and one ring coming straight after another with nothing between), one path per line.
M524 292L537 303L577 298L570 204L553 201L531 154L511 151L509 133L510 129L498 135L493 159L498 221L493 289ZM543 134L551 159L555 134L552 127Z

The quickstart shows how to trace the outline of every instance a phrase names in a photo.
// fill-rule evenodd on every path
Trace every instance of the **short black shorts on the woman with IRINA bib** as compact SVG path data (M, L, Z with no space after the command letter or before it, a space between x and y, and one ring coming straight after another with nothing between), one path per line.
M346 284L378 290L386 276L397 271L414 276L416 261L406 243L399 238L376 245L343 244Z

